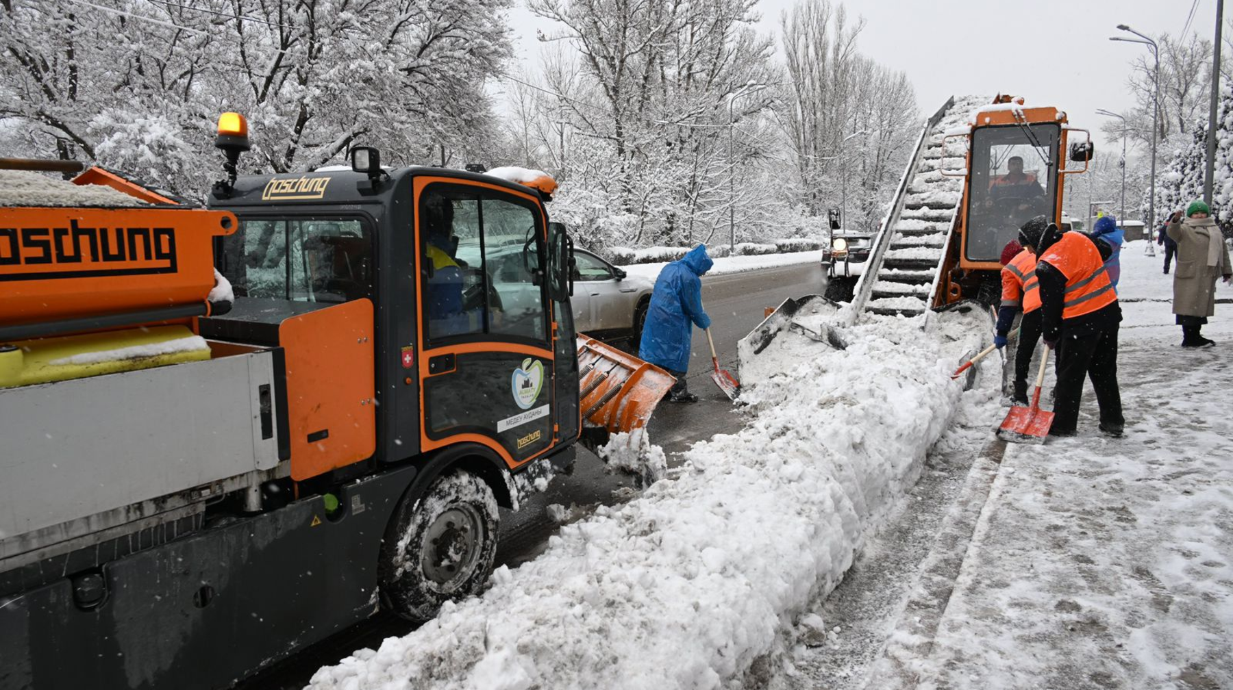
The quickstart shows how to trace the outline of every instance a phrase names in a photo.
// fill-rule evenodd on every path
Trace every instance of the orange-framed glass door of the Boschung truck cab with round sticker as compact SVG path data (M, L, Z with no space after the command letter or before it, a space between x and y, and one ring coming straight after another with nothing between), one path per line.
M554 445L552 313L535 197L418 177L422 448L492 448L509 467Z

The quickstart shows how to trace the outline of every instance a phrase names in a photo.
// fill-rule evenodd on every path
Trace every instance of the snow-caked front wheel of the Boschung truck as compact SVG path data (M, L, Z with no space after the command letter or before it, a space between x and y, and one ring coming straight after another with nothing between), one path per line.
M497 554L497 499L480 477L438 477L398 503L381 545L382 604L412 621L483 589Z

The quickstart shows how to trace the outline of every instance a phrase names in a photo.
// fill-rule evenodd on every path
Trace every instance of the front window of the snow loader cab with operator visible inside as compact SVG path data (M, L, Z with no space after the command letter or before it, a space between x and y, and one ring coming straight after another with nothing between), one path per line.
M1057 207L1055 123L980 127L972 136L964 256L996 261L1018 228Z

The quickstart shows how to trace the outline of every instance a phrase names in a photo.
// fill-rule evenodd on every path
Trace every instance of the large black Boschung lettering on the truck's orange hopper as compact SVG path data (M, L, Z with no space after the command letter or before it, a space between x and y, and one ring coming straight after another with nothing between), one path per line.
M174 274L175 228L0 228L0 281Z

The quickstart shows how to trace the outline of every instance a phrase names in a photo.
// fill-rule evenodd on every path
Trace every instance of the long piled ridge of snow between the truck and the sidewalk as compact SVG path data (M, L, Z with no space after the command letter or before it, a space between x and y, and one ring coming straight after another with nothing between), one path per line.
M565 526L480 598L317 672L309 688L718 688L851 566L959 398L958 347L878 318L846 351L783 343L746 429L679 476ZM969 338L970 339L970 338ZM808 350L808 351L805 351Z

